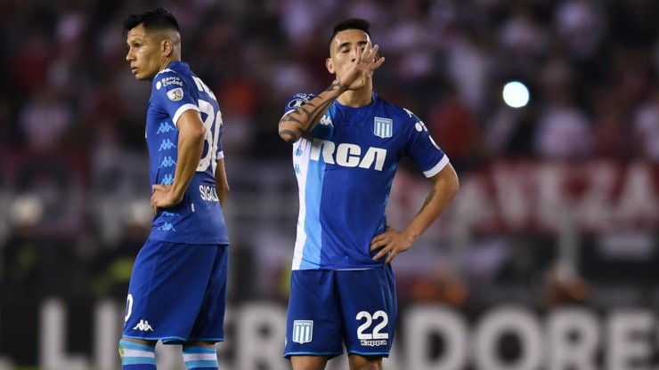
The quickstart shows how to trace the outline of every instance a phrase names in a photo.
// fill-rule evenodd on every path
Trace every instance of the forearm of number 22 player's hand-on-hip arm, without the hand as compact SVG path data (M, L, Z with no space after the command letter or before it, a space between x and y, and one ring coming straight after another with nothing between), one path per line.
M416 241L435 220L443 213L443 210L449 205L453 197L458 192L458 176L453 170L452 165L447 165L436 175L433 189L430 190L426 201L421 206L419 213L414 217L410 224L403 229L403 232L409 235L413 241Z

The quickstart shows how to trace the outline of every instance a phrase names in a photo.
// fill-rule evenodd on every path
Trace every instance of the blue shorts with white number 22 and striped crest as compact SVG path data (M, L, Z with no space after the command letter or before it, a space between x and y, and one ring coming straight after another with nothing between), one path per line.
M343 354L389 357L396 320L391 265L376 269L297 269L290 280L284 357Z

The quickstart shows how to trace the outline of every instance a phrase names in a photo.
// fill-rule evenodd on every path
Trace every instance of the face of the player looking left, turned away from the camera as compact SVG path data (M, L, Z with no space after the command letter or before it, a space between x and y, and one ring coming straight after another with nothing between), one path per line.
M126 60L130 63L135 78L151 81L160 71L162 63L163 51L159 40L147 33L141 24L128 31L126 44L128 44Z

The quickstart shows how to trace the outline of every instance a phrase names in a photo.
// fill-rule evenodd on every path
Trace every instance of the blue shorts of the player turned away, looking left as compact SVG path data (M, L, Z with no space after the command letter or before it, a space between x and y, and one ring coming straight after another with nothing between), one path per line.
M224 341L227 245L148 239L135 259L126 302L126 338Z

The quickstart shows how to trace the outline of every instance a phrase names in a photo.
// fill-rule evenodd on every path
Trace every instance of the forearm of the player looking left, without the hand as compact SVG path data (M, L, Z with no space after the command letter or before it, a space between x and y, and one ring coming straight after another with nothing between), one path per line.
M185 190L188 189L192 176L197 171L199 158L204 149L204 130L186 130L179 133L178 138L178 161L172 184L172 195L176 202L183 199Z

